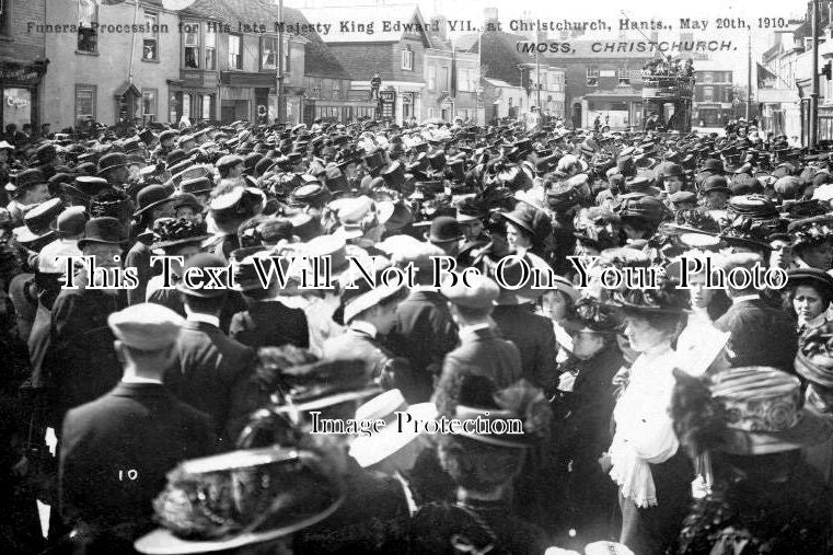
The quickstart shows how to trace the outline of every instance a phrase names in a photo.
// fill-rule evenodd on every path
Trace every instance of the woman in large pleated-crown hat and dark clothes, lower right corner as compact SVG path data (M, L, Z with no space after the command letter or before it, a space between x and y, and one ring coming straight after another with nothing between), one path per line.
M768 367L676 379L671 416L698 476L674 553L830 553L833 496L802 450L830 458L833 429L802 408L799 379Z

